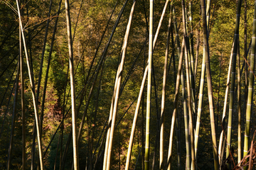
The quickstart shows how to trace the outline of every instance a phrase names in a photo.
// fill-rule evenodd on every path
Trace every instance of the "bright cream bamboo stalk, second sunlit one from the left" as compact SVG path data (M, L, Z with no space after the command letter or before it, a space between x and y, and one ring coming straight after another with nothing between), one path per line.
M72 106L72 132L73 132L73 162L74 169L79 169L78 163L78 141L77 141L77 130L76 122L77 116L75 111L75 77L74 77L74 60L73 60L73 45L71 38L71 22L70 22L70 9L69 1L65 0L65 11L67 18L67 31L68 31L68 51L69 51L69 65L70 65L70 86L71 86L71 106Z

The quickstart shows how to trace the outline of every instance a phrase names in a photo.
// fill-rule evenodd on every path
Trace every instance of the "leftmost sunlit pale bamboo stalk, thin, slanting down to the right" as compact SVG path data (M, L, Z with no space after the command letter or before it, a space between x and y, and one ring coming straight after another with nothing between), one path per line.
M37 136L38 136L38 152L39 152L38 156L39 156L39 160L40 160L41 170L43 170L41 132L40 132L40 128L39 128L38 111L37 111L37 106L36 106L35 87L34 87L34 84L33 84L31 64L30 64L29 59L28 59L28 51L27 51L27 47L26 47L26 39L25 39L24 30L23 30L23 26L22 26L21 12L20 12L20 8L19 8L18 0L16 0L16 4L17 4L17 8L18 8L18 19L19 19L19 24L20 24L20 27L21 27L21 35L22 35L23 46L24 46L24 51L25 51L25 55L26 55L26 62L27 62L27 66L28 66L28 76L29 76L29 80L30 80L30 83L31 83L31 92L32 92L32 98L33 98L33 108L34 108L35 119L36 119L36 131L37 131Z

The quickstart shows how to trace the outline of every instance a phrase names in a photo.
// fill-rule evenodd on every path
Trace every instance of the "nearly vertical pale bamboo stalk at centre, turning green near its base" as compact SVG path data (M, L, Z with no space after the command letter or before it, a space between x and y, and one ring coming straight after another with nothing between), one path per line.
M152 57L153 57L153 17L154 0L149 4L149 73L146 96L146 142L145 142L145 170L149 170L149 132L150 132L150 113L151 113L151 77L152 77Z

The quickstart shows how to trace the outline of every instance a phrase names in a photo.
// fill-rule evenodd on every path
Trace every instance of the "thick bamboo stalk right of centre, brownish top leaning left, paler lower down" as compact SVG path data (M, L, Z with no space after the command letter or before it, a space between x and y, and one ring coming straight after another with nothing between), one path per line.
M212 79L210 73L210 52L208 46L208 30L206 24L206 2L201 0L201 10L202 10L202 18L203 18L203 44L205 48L205 60L206 60L206 75L207 75L207 85L208 85L208 101L209 101L209 110L210 110L210 127L211 127L211 135L213 140L213 159L214 159L214 168L215 170L219 169L218 164L218 146L216 140L216 132L215 132L215 119L214 119L214 107L213 107L213 86Z

